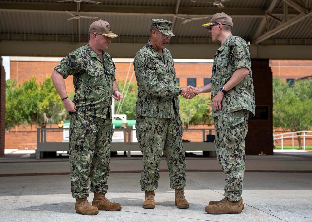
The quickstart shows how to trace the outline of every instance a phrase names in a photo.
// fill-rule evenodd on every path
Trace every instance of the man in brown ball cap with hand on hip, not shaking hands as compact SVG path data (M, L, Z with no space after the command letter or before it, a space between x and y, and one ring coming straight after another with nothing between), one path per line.
M105 194L113 135L112 98L120 100L123 95L116 83L115 64L104 52L111 43L110 38L118 35L102 20L90 25L89 35L89 43L62 59L51 77L65 109L71 113L69 159L75 210L84 215L96 215L98 210L121 209L119 203L111 203ZM75 87L73 102L68 99L65 88L64 79L69 75L73 75ZM92 206L87 200L89 174L94 193Z

